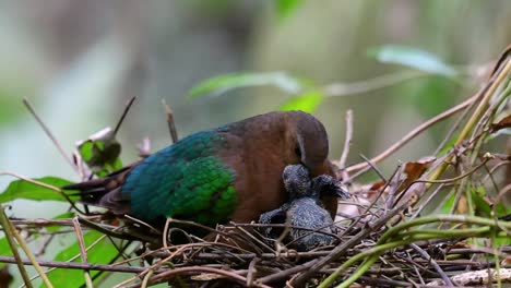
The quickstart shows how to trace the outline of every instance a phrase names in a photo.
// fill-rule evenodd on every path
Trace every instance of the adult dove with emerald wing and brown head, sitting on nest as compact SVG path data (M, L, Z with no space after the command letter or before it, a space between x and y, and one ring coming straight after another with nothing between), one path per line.
M335 176L323 124L302 111L274 111L190 134L107 177L63 187L84 204L151 225L168 217L214 227L250 223L284 204L284 168ZM336 199L321 195L332 217Z

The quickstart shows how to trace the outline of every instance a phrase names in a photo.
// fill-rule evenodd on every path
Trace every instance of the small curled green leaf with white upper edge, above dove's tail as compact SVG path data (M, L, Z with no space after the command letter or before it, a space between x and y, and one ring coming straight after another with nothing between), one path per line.
M104 177L122 168L119 158L121 145L110 128L103 129L76 145L82 159L95 175Z

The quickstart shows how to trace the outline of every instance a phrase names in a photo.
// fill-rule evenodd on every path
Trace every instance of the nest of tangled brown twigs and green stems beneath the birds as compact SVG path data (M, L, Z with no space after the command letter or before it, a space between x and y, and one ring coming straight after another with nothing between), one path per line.
M345 146L337 163L338 177L352 182L354 199L338 204L335 226L340 232L333 245L298 252L282 241L284 237L268 239L259 232L278 225L230 223L213 229L168 219L165 229L158 230L136 219L119 224L105 215L9 219L2 213L8 239L15 240L28 259L14 253L12 257L0 256L0 262L16 263L21 271L24 265L34 265L44 283L47 271L43 267L81 269L88 275L86 285L97 275L131 274L115 287L158 283L173 287L439 287L511 283L511 217L502 200L510 179L507 171L504 177L499 173L499 169L510 169L511 149L498 154L485 148L491 135L511 127L511 116L502 105L511 95L509 52L510 49L504 51L476 95L425 122L380 156L346 167ZM464 112L444 141L454 143L451 149L403 164L388 178L379 172L376 163L457 111ZM346 143L352 133L349 123L348 118ZM352 181L369 169L379 173L381 181L364 185ZM436 206L441 206L441 213ZM50 227L58 227L58 232ZM190 233L190 227L209 237ZM281 227L284 233L304 229L285 224ZM83 235L88 230L103 235L103 242L87 242ZM26 248L34 235L54 237L64 232L76 236L81 249L74 260L81 262L37 260L37 253ZM179 237L180 242L175 242L174 237ZM105 241L118 249L114 261L88 261L90 249Z

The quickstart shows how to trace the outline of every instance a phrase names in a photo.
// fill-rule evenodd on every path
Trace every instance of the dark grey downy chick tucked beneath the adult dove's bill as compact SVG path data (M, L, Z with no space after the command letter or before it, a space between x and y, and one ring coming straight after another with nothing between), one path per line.
M286 166L282 177L289 193L289 201L277 209L261 214L259 223L289 225L292 228L283 240L300 252L332 244L336 240L336 229L333 217L323 208L319 196L323 193L348 199L349 194L345 188L328 175L321 175L311 180L304 165ZM284 229L265 227L262 232L268 238L277 239Z

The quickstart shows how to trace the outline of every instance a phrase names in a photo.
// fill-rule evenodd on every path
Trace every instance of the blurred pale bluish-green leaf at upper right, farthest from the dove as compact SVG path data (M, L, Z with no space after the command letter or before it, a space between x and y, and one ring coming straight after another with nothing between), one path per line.
M418 48L389 45L370 48L367 53L383 63L401 64L447 76L457 75L454 68L444 63L436 55Z

